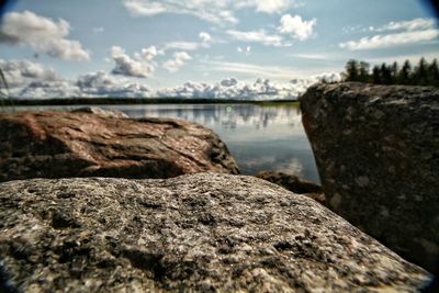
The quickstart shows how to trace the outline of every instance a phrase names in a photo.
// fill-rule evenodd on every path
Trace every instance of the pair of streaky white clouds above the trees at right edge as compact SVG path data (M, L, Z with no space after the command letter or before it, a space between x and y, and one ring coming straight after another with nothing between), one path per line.
M360 40L340 43L339 47L349 50L390 48L437 41L439 36L439 30L435 27L435 20L432 19L390 22L380 27L371 26L369 31L389 33L364 36Z

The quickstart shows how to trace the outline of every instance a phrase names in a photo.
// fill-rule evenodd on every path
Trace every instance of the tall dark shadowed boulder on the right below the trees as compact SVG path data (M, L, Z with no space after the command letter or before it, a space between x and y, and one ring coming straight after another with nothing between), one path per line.
M432 270L439 258L439 89L318 84L301 106L331 210Z

